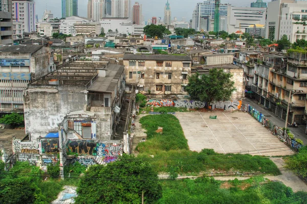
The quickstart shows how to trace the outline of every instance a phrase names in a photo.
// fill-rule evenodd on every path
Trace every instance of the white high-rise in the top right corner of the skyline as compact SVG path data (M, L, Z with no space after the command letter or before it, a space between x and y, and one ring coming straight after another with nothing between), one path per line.
M279 35L287 35L291 43L298 39L307 40L307 2L283 4L280 13Z

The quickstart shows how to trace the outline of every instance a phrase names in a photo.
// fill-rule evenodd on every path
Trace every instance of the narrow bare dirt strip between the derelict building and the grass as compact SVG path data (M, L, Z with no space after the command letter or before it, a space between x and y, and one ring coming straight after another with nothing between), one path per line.
M135 156L139 154L139 152L135 150L139 142L142 141L142 139L147 138L147 134L145 133L146 130L142 128L142 124L140 123L140 119L146 115L147 114L141 114L135 117L135 128L133 132L134 137L132 140L132 154L134 154Z

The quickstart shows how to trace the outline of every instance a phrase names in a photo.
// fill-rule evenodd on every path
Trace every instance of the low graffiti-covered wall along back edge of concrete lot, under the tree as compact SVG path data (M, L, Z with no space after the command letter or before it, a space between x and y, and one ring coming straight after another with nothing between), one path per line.
M207 103L199 100L168 100L168 99L150 99L147 106L155 107L176 107L176 108L205 108ZM210 104L212 109L224 109L224 110L240 110L242 106L242 100L230 100L220 101ZM210 108L209 107L209 108Z

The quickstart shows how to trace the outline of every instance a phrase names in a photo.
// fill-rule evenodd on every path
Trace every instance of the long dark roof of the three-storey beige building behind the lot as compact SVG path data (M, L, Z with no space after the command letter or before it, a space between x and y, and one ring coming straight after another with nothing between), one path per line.
M123 60L169 60L169 61L192 61L186 55L124 55Z

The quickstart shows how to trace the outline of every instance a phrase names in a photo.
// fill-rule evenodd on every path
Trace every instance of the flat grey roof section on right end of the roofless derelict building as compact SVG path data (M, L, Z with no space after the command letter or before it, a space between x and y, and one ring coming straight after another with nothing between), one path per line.
M98 77L87 90L112 93L117 86L117 82L124 68L125 66L123 65L109 64L106 67L106 77Z

